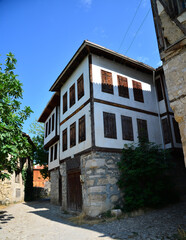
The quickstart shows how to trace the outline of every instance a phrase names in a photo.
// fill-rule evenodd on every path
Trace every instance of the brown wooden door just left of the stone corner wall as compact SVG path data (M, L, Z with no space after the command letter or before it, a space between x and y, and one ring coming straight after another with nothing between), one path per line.
M73 211L82 210L82 189L80 171L68 172L68 208Z

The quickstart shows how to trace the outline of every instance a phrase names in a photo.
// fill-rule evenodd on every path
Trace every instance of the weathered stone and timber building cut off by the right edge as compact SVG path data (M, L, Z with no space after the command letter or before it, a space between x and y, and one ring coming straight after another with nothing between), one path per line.
M170 106L179 124L186 165L186 1L151 0Z

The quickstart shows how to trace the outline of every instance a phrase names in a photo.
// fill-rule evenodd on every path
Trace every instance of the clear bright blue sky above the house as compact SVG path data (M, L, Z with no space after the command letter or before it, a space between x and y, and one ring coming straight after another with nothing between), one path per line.
M160 65L150 0L0 0L0 62L10 51L15 55L22 107L34 111L25 132L85 39L152 67Z

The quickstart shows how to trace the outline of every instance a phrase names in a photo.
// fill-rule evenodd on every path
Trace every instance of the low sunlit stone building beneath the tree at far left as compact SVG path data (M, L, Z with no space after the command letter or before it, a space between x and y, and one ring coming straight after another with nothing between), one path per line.
M24 201L24 181L22 169L32 169L33 163L30 158L20 158L17 170L10 176L10 179L0 180L0 205Z

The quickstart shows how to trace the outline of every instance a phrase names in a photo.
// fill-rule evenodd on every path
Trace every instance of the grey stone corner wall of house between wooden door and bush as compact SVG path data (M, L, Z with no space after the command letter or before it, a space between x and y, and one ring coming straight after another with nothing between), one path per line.
M120 200L117 186L119 153L91 152L81 156L83 211L97 216L112 209Z

